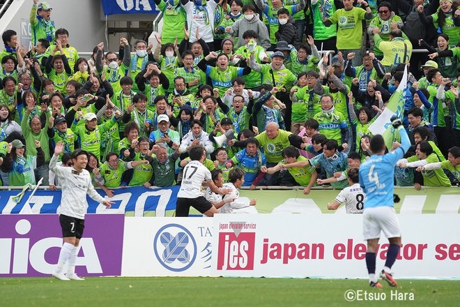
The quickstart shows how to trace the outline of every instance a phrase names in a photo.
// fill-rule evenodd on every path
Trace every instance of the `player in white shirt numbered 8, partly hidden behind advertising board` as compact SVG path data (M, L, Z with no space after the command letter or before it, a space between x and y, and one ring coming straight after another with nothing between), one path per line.
M333 202L328 204L329 210L337 210L340 204L345 203L345 210L347 214L362 214L365 202L365 193L360 186L360 178L358 174L358 167L351 167L348 169L348 185L340 191L339 195L335 197Z

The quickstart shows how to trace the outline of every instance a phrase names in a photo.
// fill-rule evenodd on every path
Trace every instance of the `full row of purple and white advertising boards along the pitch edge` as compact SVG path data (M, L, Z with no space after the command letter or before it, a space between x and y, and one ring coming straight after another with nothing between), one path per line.
M397 278L460 278L458 214L399 220ZM55 214L0 215L0 278L50 276L62 243ZM80 276L367 278L360 214L89 214L80 246ZM382 238L378 269L387 249Z

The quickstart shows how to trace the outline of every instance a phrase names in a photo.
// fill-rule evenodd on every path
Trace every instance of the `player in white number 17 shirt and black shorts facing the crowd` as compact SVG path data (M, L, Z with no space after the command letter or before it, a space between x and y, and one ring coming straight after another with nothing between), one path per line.
M210 190L220 195L230 193L228 188L217 188L211 177L210 171L203 165L206 159L206 149L202 146L192 147L188 151L190 163L185 165L181 188L177 193L176 216L188 216L190 206L206 216L214 216L217 209L201 193L201 184L206 181Z

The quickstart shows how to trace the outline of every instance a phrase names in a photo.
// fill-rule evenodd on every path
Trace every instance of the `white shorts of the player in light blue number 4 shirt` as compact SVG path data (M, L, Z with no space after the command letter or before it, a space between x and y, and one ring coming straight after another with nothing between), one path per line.
M367 208L362 219L362 234L365 240L380 238L381 231L387 238L401 237L401 227L394 207Z

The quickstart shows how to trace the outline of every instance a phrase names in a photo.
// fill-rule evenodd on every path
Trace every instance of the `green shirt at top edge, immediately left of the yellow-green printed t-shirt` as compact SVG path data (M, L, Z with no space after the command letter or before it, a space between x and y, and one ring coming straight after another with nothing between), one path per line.
M329 18L335 13L335 2L333 0L319 0L312 4L313 9L313 38L315 40L327 40L337 36L337 27L325 27L323 17Z

